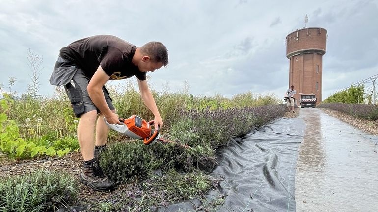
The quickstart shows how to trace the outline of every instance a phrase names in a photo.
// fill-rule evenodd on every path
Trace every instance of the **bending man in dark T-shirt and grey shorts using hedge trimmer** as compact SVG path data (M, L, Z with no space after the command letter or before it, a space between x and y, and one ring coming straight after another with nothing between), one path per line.
M103 173L96 157L106 147L109 128L104 117L109 124L121 124L105 83L135 75L141 98L155 116L155 126L162 126L146 73L167 65L167 49L155 41L136 47L112 35L96 35L60 49L50 83L64 86L76 117L80 117L78 139L84 159L82 183L97 191L106 191L116 185ZM97 114L100 116L96 124Z

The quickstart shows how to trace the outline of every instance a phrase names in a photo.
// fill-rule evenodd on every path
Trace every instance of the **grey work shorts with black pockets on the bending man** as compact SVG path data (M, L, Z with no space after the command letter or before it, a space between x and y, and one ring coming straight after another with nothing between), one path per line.
M64 89L66 91L66 94L68 95L68 98L71 101L72 109L74 110L76 117L79 118L82 114L94 110L96 110L97 113L100 113L100 110L94 105L94 103L90 99L88 91L86 89L91 78L86 76L82 69L76 67L75 64L72 64L71 62L68 62L61 57L58 58L58 61L56 62L54 69L59 69L59 71L67 71L67 73L76 70L70 82L64 85ZM102 89L105 100L110 110L114 110L115 108L109 96L109 92L105 88L105 85Z

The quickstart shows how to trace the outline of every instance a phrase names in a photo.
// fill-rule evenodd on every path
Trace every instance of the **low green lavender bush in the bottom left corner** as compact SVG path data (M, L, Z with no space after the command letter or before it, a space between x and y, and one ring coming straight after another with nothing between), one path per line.
M3 212L53 212L76 199L75 180L64 173L38 170L0 180Z

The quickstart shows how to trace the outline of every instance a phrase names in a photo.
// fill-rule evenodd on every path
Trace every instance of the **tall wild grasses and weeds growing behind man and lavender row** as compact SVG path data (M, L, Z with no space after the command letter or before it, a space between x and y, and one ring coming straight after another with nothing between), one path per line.
M12 80L12 84L14 83ZM141 101L136 88L130 81L108 86L117 113L122 118L136 114L152 120L153 114ZM31 92L33 95L27 92L18 97L2 92L1 88L0 91L4 96L1 100L0 120L9 128L8 132L14 132L12 135L2 135L3 146L7 146L2 148L3 153L20 160L45 155L62 156L68 151L79 149L76 138L79 119L73 116L70 102L62 87L58 87L51 98L36 95L34 92ZM225 98L219 94L210 97L193 96L188 93L187 87L175 93L158 93L152 89L152 93L166 123L180 117L181 111L185 110L232 109L279 103L273 95L254 95L251 92L237 94L233 98ZM5 125L2 132L5 132ZM111 135L111 141L118 139L115 133L112 132Z

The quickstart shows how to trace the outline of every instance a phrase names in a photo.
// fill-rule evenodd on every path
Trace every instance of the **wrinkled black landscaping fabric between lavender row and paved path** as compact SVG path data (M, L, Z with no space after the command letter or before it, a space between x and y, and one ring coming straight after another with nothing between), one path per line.
M219 152L219 165L211 173L221 178L220 188L207 201L224 197L218 212L295 212L295 168L305 123L298 118L278 118L230 141ZM158 212L201 209L191 200L159 208ZM198 210L201 211L201 210Z

